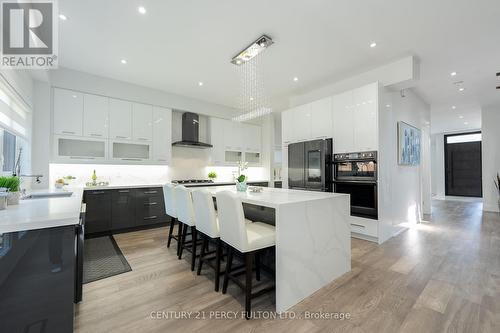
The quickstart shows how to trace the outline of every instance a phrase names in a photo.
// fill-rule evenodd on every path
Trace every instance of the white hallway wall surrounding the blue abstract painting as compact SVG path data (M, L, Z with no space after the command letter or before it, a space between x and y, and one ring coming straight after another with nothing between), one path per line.
M431 200L430 185L424 184L430 175L430 107L411 90L405 96L386 90L379 105L379 243L397 233L400 224L419 222ZM422 131L419 166L398 164L398 121Z

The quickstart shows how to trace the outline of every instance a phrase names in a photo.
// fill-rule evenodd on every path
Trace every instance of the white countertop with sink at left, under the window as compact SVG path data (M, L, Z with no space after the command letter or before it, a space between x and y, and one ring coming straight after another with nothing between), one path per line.
M62 190L32 190L31 193L61 192ZM82 206L82 188L72 188L69 197L20 200L19 205L0 210L0 234L23 230L44 229L78 224Z

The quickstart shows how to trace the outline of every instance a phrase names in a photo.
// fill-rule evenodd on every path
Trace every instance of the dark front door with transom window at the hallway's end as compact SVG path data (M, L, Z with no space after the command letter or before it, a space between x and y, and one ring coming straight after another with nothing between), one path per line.
M463 137L465 142L457 140L459 137ZM481 141L468 140L470 138L467 138L467 135L445 137L446 195L466 197L483 195Z

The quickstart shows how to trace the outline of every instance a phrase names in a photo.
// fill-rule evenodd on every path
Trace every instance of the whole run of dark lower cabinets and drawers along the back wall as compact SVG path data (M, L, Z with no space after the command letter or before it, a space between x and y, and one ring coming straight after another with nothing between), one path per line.
M85 191L85 234L109 233L165 223L163 189L123 188Z

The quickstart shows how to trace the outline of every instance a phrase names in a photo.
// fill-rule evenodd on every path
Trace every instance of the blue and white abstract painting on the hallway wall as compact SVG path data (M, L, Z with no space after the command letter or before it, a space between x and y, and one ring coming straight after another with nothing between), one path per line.
M420 164L420 130L405 122L398 122L398 163Z

